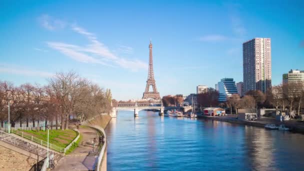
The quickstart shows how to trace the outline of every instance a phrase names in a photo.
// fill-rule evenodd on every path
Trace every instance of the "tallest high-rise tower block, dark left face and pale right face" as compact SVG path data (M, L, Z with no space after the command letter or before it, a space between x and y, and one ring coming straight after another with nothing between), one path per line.
M253 38L243 43L243 87L263 93L271 87L270 38Z

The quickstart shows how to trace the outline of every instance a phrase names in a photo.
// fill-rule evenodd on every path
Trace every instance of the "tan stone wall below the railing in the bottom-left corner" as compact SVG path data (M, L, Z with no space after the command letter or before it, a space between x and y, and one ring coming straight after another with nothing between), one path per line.
M27 151L20 151L22 150L21 148L17 149L18 147L4 143L5 142L0 143L0 170L29 170L37 162L36 159L20 153L26 153ZM15 150L12 150L11 148ZM35 156L34 154L31 155L33 157Z

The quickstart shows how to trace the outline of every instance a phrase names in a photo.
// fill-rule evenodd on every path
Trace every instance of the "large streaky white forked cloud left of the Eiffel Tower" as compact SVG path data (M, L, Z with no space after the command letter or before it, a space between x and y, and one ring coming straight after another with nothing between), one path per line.
M111 67L120 66L131 71L147 69L148 66L143 61L116 56L106 45L98 41L95 34L88 32L84 28L72 24L71 29L78 34L84 35L89 43L80 46L64 42L47 41L47 45L74 60L84 63L98 63Z

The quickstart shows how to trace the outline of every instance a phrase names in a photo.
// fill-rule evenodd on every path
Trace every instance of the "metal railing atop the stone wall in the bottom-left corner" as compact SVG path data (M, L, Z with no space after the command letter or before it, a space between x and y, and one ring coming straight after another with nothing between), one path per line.
M0 130L0 140L17 146L19 148L25 149L34 154L38 154L39 156L46 157L47 156L47 149L42 148L34 143L28 142L16 136L10 135L6 132ZM53 154L52 151L48 152L49 154Z

